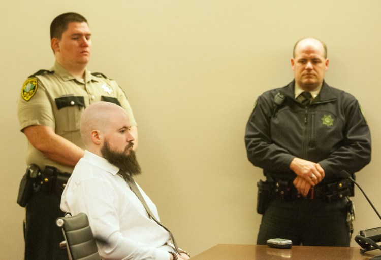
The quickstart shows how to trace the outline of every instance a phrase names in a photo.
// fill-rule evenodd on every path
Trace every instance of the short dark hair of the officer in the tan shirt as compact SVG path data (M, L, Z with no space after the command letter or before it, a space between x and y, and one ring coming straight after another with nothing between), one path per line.
M50 40L53 38L61 40L62 33L68 29L68 24L71 22L87 23L87 20L85 17L77 13L64 13L58 15L50 24Z

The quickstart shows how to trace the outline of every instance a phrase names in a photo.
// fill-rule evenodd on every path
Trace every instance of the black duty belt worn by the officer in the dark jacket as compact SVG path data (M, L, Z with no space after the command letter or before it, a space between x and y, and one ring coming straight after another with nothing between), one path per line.
M275 181L274 192L284 201L292 201L300 198L323 199L326 202L338 201L347 196L353 196L353 185L348 179L333 181L311 187L307 196L298 194L291 180Z

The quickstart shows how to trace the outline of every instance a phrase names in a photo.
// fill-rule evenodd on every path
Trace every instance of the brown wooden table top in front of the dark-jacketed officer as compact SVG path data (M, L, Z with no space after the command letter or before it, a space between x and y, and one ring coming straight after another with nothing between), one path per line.
M191 260L367 260L381 251L360 254L360 247L293 246L291 249L271 248L266 245L218 244Z

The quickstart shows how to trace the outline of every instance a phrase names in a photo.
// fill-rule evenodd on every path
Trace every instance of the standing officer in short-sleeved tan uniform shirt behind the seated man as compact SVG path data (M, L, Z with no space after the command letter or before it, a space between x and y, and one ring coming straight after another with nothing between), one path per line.
M42 172L26 205L25 260L68 259L59 248L63 237L55 219L63 215L61 192L84 154L79 131L83 110L98 101L120 105L131 120L134 150L138 144L136 121L123 90L86 68L91 53L87 20L76 13L59 15L50 34L56 62L50 70L31 75L18 98L20 128L28 139L26 163Z

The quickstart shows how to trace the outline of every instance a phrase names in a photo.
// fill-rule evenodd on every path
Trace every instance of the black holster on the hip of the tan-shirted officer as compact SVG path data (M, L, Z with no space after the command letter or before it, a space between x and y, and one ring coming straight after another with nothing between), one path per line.
M18 190L17 204L25 207L32 194L39 188L41 181L41 171L36 164L31 164L26 168L24 176L22 176L20 187Z

